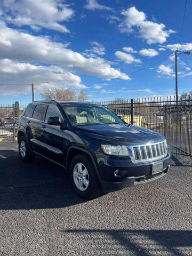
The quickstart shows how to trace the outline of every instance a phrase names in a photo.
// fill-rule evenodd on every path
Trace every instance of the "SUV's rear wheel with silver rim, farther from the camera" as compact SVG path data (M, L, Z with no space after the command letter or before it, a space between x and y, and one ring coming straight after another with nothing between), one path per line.
M19 155L21 161L30 162L34 159L35 154L30 150L25 136L21 136L19 139Z

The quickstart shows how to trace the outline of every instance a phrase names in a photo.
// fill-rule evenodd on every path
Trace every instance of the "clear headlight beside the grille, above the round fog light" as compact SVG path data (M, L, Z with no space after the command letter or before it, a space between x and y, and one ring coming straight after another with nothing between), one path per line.
M103 153L107 155L115 156L129 156L129 151L126 146L112 146L112 145L101 145Z

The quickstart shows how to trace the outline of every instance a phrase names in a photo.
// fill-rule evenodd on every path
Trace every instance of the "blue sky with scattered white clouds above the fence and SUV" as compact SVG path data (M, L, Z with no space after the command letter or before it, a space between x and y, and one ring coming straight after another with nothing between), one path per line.
M0 103L41 99L46 86L89 100L175 93L174 58L185 1L5 0L0 4ZM188 1L179 50L192 51ZM153 65L138 71L148 65ZM192 90L192 55L178 60L179 93ZM133 73L133 74L132 74Z

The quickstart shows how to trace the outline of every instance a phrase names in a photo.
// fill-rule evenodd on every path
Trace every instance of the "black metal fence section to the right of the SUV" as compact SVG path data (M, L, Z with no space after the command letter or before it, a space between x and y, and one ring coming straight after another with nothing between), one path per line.
M174 154L192 156L192 96L97 102L126 123L163 134Z

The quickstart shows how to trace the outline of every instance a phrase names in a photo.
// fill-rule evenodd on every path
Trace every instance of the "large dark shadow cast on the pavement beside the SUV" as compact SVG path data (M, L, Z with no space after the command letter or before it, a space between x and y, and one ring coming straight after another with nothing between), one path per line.
M0 150L0 210L46 209L85 202L71 186L62 167L35 157L30 163L20 161L19 153Z

